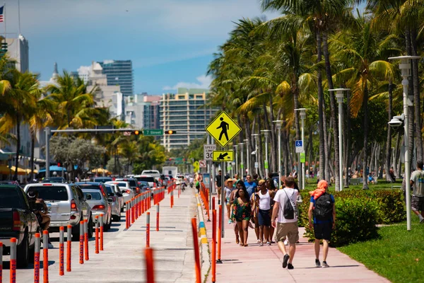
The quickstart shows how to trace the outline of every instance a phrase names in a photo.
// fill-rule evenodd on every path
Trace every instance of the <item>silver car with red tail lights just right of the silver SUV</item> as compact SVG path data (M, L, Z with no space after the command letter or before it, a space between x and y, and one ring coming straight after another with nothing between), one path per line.
M107 202L107 198L98 189L83 188L83 194L91 207L91 220L93 224L97 223L95 216L103 215L103 229L108 231L112 223L112 205Z

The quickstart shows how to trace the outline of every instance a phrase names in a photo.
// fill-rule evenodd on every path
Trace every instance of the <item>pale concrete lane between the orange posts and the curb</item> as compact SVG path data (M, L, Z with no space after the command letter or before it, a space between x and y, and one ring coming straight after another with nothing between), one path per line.
M155 279L156 282L194 282L194 250L190 224L190 219L196 215L194 192L187 189L179 199L175 193L174 202L172 209L168 195L160 202L160 231L155 231L155 207L150 209ZM72 272L65 272L64 276L59 276L59 238L54 237L59 237L59 233L52 233L54 249L49 250L49 282L146 281L143 253L146 247L146 214L139 217L126 231L123 213L122 220L113 223L112 229L105 232L104 250L100 254L94 253L95 241L91 239L90 260L83 265L78 261L79 243L72 242ZM4 261L4 282L8 282L8 256L4 257ZM42 269L40 278L42 279ZM33 265L26 270L17 271L17 282L33 282Z

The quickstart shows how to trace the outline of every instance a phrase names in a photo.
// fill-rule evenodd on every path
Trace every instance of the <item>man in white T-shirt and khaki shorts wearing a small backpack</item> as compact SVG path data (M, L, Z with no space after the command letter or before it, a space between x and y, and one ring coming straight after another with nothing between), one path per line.
M293 177L285 178L285 187L278 190L274 197L274 206L271 217L271 225L277 229L276 238L278 248L283 253L283 268L287 267L293 270L293 257L296 251L296 242L299 240L298 212L296 200L298 191L295 190L295 179ZM276 223L276 218L278 220ZM287 253L284 240L288 238L289 251Z

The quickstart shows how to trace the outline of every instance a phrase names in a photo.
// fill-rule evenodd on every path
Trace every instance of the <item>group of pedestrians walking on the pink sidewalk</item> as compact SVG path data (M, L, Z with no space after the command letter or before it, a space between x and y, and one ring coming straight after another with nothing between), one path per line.
M254 228L259 246L271 246L275 243L273 235L276 230L274 239L283 253L283 268L293 269L296 243L299 243L298 204L302 202L298 186L291 176L283 180L281 190L278 190L272 178L255 180L255 177L257 176L252 178L247 175L245 182L237 178L225 180L225 204L228 222L234 224L235 242L247 247L251 227ZM221 184L217 180L218 178L218 187ZM310 195L308 218L315 236L315 265L329 267L326 257L336 220L334 197L328 193L328 183L325 180L319 181L317 190L310 192ZM322 263L319 260L321 241L324 247Z

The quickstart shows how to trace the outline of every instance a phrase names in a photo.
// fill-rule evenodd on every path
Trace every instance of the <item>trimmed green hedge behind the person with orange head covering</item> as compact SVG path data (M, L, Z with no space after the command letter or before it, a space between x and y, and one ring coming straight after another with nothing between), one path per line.
M310 195L301 192L299 225L305 227L305 236L313 241L307 211ZM377 224L404 221L406 212L401 190L346 190L331 192L336 200L336 229L331 234L331 246L367 241L376 238Z

